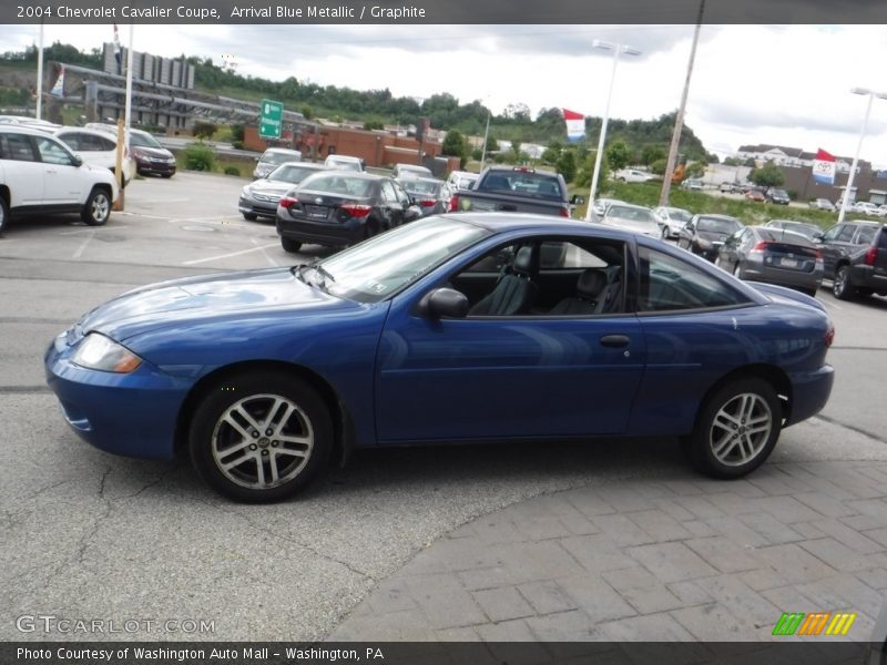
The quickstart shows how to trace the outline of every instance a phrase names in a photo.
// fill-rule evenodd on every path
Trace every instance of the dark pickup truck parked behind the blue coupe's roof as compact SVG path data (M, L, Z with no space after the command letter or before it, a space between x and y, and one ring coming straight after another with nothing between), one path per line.
M567 196L567 183L558 173L523 166L490 166L470 190L450 198L450 212L514 212L569 217L581 196Z

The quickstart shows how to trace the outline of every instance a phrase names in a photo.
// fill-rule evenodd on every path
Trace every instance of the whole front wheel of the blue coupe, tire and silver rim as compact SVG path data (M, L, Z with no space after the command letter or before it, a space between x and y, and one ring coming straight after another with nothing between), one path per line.
M188 431L191 460L216 492L247 503L287 499L326 467L333 422L324 401L285 372L243 372L203 398Z

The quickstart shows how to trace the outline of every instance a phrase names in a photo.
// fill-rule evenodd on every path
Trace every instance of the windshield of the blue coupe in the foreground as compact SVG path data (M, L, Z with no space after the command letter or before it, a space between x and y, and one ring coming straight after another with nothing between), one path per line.
M428 217L339 252L317 267L330 294L377 303L488 235L489 231L473 224Z

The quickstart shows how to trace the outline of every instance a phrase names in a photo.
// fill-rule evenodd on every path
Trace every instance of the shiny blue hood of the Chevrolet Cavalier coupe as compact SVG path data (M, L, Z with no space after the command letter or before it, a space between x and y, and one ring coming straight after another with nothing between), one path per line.
M185 321L258 316L282 308L312 311L359 307L308 286L290 268L175 279L128 291L86 314L77 337L102 332L118 341Z

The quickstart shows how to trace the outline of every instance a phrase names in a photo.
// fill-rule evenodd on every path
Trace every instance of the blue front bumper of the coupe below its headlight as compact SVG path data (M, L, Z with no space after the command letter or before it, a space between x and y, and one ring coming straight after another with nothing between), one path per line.
M71 362L75 348L62 334L43 358L47 383L71 429L105 452L172 459L179 411L192 383L147 361L128 375L84 369Z

